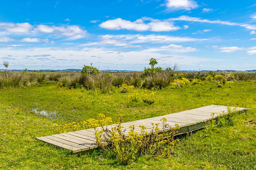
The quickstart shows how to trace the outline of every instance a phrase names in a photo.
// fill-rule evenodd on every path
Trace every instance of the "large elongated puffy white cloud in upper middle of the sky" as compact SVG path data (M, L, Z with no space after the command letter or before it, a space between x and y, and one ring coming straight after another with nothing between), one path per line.
M149 23L144 21L150 21ZM122 18L111 19L100 24L101 28L110 29L110 30L135 30L135 31L175 31L180 29L178 26L174 26L170 21L161 21L158 19L143 17L137 19L134 22L125 20Z

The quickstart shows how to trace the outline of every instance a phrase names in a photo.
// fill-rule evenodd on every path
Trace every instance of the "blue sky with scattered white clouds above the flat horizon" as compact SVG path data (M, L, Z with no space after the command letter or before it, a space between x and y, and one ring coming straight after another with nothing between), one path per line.
M8 69L256 69L256 1L2 1ZM0 69L4 69L0 65Z

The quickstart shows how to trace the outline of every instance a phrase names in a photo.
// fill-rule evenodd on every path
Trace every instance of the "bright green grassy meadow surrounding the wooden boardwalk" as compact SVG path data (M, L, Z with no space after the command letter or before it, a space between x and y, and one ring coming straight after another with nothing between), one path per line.
M189 76L196 77L185 77ZM104 92L97 88L105 86L96 78L85 77L88 83L80 87L82 78L78 76L77 79L71 76L55 76L54 79L54 74L49 77L36 77L29 82L24 76L20 78L22 83L17 85L7 85L6 81L2 88L0 85L0 169L256 168L256 82L253 74L252 81L236 79L222 87L214 81L198 84L191 81L179 88L170 88L171 80L162 75L167 85L153 90L152 87L161 84L156 77L144 80L131 74L121 81L116 75L105 75L107 78L102 81L111 78L112 83ZM99 78L102 77L99 75ZM156 92L154 103L132 102L130 92L121 92L118 82L139 87L130 92ZM212 104L251 109L237 114L233 125L197 130L191 137L180 136L173 154L160 160L146 154L134 163L123 165L111 152L95 149L92 154L77 155L36 140L36 137L57 134L55 123L80 122L96 118L98 114L114 121L121 115L123 122L129 122Z

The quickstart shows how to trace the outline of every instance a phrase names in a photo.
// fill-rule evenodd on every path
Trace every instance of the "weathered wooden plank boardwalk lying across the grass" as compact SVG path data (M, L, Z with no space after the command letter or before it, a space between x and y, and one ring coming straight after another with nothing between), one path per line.
M246 110L247 108L242 107L230 107L231 109L236 109L237 111ZM223 114L224 112L224 114ZM167 118L167 123L174 127L175 124L179 124L180 129L178 133L175 135L180 135L183 133L187 133L196 129L200 129L204 127L205 121L211 120L211 113L216 113L213 118L216 118L219 113L225 115L228 113L227 106L219 106L219 105L210 105L205 107L200 107L196 109L186 110L178 113L173 113L169 115L157 116L148 119L142 119L138 121L125 122L121 123L124 127L124 134L128 134L130 131L129 126L134 125L134 131L140 133L139 125L144 125L147 127L146 131L150 132L152 130L151 123L160 123L159 128L162 129L163 125L161 124L160 119L165 117ZM162 127L161 127L162 126ZM99 129L101 129L99 127ZM161 131L160 131L161 132ZM48 144L53 144L57 147L65 148L73 151L73 153L80 152L92 152L92 149L97 148L94 129L85 129L78 130L74 132L61 133L57 135L50 135L45 137L37 137L37 139L46 142Z

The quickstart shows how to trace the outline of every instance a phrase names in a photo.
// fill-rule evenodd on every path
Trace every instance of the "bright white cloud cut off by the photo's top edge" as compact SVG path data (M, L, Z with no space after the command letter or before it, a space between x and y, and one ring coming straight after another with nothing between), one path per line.
M167 0L166 6L171 10L187 10L197 8L198 4L194 0Z

